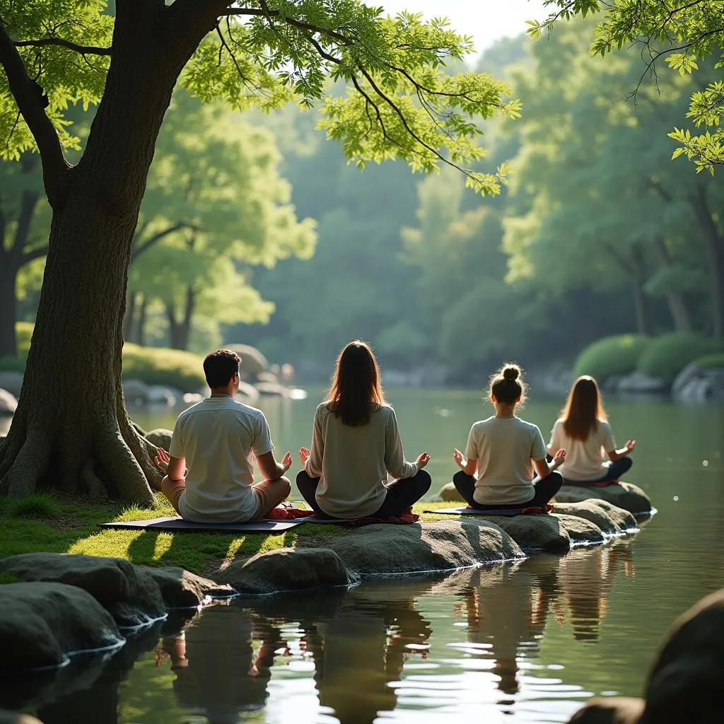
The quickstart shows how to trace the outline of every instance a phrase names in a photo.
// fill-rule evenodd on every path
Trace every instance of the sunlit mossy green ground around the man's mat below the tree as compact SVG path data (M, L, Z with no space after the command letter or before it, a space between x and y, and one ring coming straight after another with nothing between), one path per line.
M445 516L422 510L445 505L450 503L422 503L414 510L421 514L421 521L435 521ZM218 568L224 560L277 548L321 547L334 536L350 534L345 526L313 523L279 535L163 533L98 527L109 521L140 521L164 515L174 515L165 501L153 510L143 510L62 494L0 499L0 557L35 551L113 556L140 565L180 565L203 574Z

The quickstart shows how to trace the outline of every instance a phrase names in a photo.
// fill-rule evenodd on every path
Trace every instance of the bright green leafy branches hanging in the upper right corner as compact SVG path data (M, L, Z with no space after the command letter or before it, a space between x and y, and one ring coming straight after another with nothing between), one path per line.
M586 17L597 13L600 19L591 46L593 55L605 56L614 49L631 46L641 52L644 77L656 77L657 62L663 60L680 75L699 71L703 59L714 54L716 68L724 66L724 3L720 0L545 0L552 7L546 20L529 21L529 33L539 37L560 19L576 15ZM668 135L680 145L673 158L686 155L696 170L714 173L724 163L724 129L720 117L724 113L724 83L707 80L703 90L696 90L686 117L704 132L692 133L675 128Z

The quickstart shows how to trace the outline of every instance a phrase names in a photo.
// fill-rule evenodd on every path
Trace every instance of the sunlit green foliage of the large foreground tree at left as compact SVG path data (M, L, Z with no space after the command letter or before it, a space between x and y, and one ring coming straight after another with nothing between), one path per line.
M47 96L46 113L62 145L77 148L66 111L72 103L96 104L103 94L114 54L114 18L106 2L3 5L0 22ZM492 173L470 168L484 157L478 120L497 113L515 117L519 104L504 101L508 86L489 75L447 72L447 64L472 50L471 39L451 30L447 20L426 22L407 12L383 17L382 8L360 0L248 0L219 8L216 27L182 73L182 85L195 96L265 111L292 99L306 107L324 101L320 127L359 166L395 157L413 171L450 164L479 192L500 190L505 167ZM348 92L328 96L330 81L344 83ZM4 158L34 146L3 73L0 134Z

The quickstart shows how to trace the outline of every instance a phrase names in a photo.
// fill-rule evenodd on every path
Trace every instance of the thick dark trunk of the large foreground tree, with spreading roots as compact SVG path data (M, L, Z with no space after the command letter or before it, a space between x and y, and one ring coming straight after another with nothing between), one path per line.
M0 443L0 492L9 497L42 482L154 500L156 448L133 429L121 390L127 271L172 90L213 27L206 4L119 3L104 96L77 167L60 167L43 135L53 220L25 382Z

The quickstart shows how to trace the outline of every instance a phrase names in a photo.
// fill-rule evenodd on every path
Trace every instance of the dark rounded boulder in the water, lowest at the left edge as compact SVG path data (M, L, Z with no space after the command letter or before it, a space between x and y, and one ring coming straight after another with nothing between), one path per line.
M77 586L14 583L1 586L0 671L59 666L66 654L122 644L116 623Z

